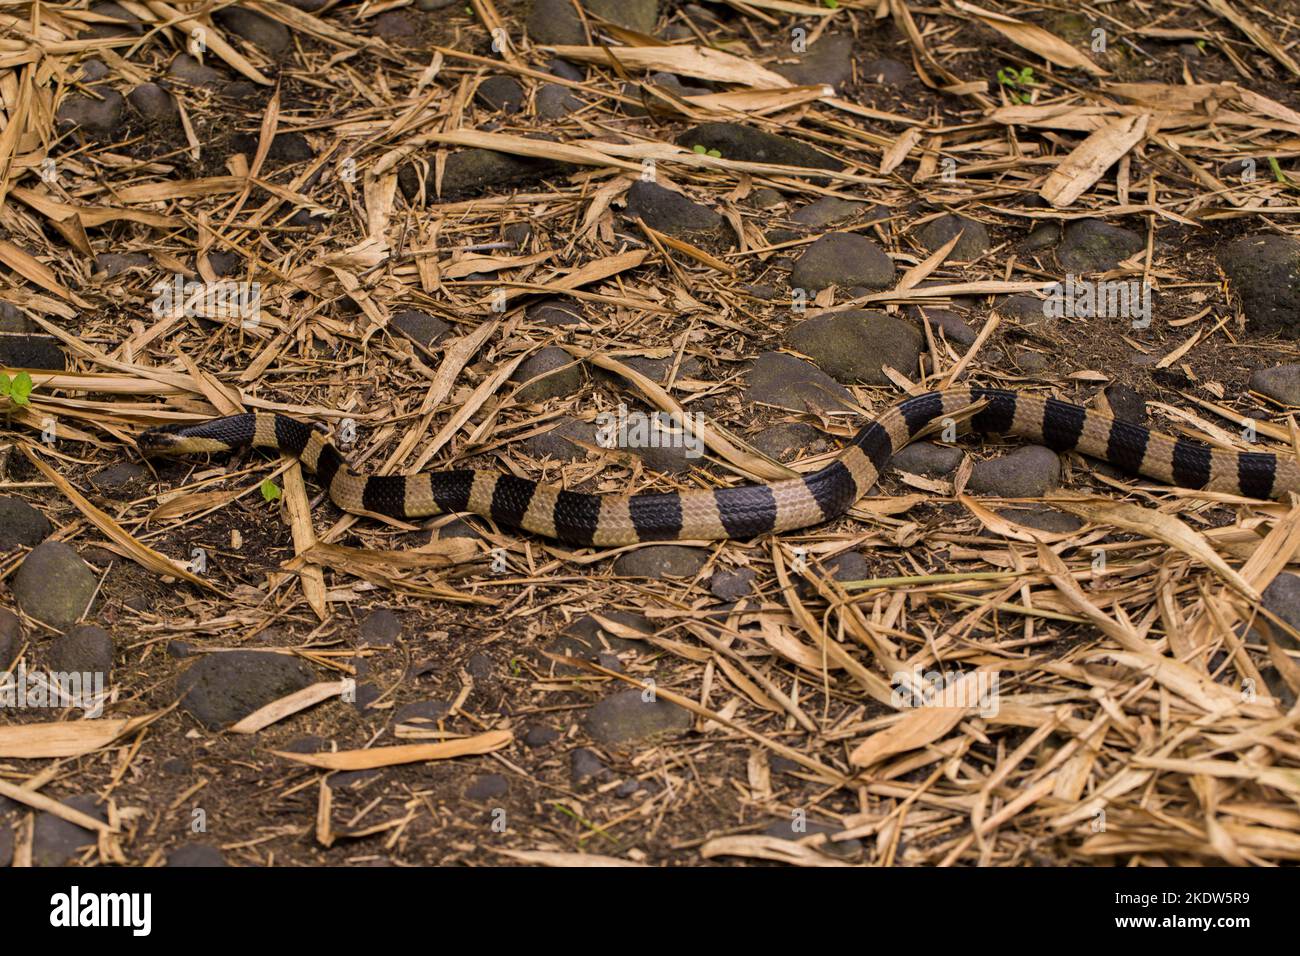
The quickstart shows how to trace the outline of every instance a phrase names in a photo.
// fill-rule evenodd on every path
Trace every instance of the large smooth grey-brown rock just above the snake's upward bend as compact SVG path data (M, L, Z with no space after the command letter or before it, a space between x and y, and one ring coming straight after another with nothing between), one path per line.
M836 381L868 385L890 384L884 365L913 375L923 345L910 323L857 308L806 319L786 339Z

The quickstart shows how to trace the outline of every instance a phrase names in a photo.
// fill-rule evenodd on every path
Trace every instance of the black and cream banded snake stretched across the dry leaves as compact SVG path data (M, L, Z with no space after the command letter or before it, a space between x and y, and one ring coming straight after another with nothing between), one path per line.
M472 512L571 545L618 546L746 538L827 522L866 494L890 457L927 425L976 402L984 403L970 419L978 432L1079 451L1130 475L1252 498L1300 492L1300 466L1290 457L1216 449L1056 398L980 386L927 392L890 406L819 471L711 490L584 494L471 470L367 476L343 462L321 428L270 412L152 428L140 436L139 445L146 454L276 449L298 455L330 499L352 514L426 518Z

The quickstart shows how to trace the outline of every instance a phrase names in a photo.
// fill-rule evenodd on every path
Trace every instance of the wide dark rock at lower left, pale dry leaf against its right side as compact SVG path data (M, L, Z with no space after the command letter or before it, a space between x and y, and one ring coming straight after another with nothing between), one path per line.
M177 682L183 706L208 730L220 730L313 680L296 657L256 650L207 654ZM361 687L356 688L358 701Z

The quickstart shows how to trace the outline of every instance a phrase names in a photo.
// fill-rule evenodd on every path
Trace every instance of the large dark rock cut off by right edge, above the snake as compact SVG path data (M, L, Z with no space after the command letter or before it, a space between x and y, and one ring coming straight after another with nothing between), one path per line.
M1253 332L1300 338L1300 239L1235 239L1219 248L1218 261Z

